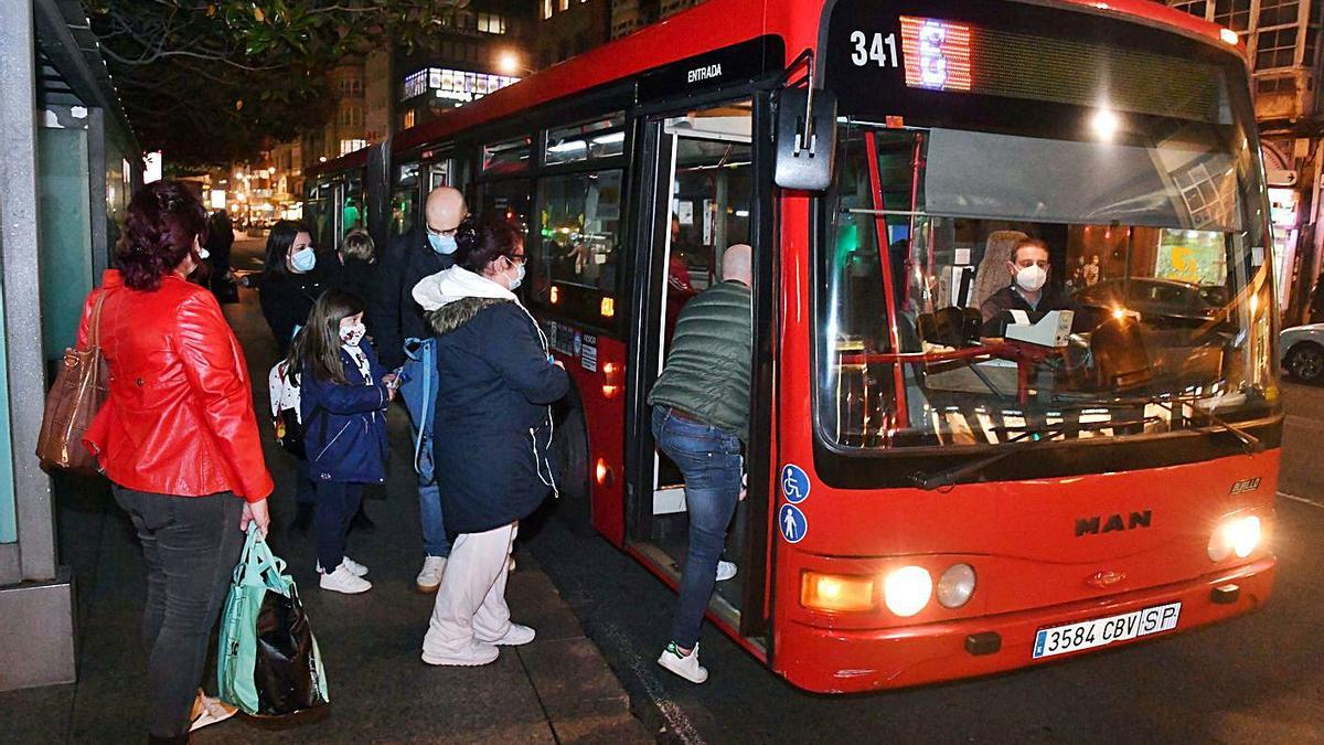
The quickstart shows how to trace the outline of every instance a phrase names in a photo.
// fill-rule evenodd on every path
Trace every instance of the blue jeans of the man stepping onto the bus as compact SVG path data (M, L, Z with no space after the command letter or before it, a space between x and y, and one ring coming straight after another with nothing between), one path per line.
M681 419L665 406L653 408L653 436L685 476L690 549L681 573L681 599L671 620L671 640L691 650L699 642L699 624L716 583L727 526L740 501L740 439L716 427Z

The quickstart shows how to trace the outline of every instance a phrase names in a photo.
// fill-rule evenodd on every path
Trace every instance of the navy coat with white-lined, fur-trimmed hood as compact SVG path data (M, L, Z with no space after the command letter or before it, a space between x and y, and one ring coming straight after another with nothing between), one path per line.
M482 533L528 517L553 490L548 406L569 390L514 293L453 266L413 298L437 334L433 453L446 529Z

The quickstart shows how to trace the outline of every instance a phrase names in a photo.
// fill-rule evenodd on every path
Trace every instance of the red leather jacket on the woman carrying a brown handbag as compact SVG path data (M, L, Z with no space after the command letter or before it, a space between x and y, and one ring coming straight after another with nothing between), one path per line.
M134 290L110 269L83 305L79 347L102 293L110 395L83 441L106 476L160 494L229 490L250 502L266 498L271 475L244 350L216 298L175 274L163 277L156 292Z

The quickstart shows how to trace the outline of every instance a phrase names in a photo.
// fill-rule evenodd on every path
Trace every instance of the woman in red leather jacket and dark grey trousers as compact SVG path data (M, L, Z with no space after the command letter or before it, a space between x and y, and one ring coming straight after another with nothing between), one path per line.
M99 306L110 391L83 440L147 563L152 742L188 741L207 643L244 530L256 522L266 533L273 488L244 351L216 298L184 280L205 236L207 212L184 186L139 190L115 248L119 268L87 297L78 330L86 349ZM192 725L224 716L204 705Z

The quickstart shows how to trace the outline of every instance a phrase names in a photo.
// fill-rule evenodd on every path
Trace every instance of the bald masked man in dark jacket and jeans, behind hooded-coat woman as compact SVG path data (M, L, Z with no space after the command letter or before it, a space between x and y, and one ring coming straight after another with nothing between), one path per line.
M397 236L387 247L385 256L379 261L373 302L369 302L367 313L368 333L372 334L383 366L395 370L405 365L405 339L432 339L422 309L413 300L413 288L424 277L454 265L455 229L467 216L469 207L459 190L434 188L424 203L422 225ZM421 396L408 384L401 388L401 394L410 412L413 436L409 449L413 452L413 445L418 441L421 414L428 406L418 400ZM428 433L426 428L424 433ZM436 593L446 569L446 557L450 555L450 541L441 513L441 490L430 469L425 469L418 477L418 517L426 557L416 585L420 593Z

